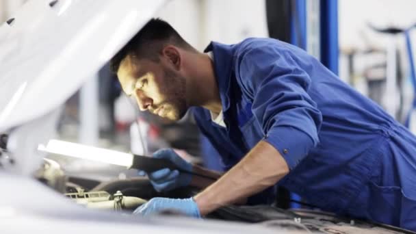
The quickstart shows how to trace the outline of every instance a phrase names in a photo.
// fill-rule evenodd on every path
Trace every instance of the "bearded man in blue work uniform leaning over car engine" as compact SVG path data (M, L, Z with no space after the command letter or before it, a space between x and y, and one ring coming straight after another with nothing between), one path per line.
M211 42L205 53L152 19L113 58L140 109L179 120L192 107L226 173L191 165L171 149L156 190L196 185L188 199L153 198L135 213L179 209L201 217L224 205L268 204L281 185L326 211L416 230L416 138L301 49L269 38Z

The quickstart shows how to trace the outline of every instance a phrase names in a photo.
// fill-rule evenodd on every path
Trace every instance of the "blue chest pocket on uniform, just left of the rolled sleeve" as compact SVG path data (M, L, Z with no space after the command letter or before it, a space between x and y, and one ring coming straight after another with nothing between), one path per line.
M248 150L254 147L263 137L263 129L252 114L251 103L245 103L237 112L239 129Z

